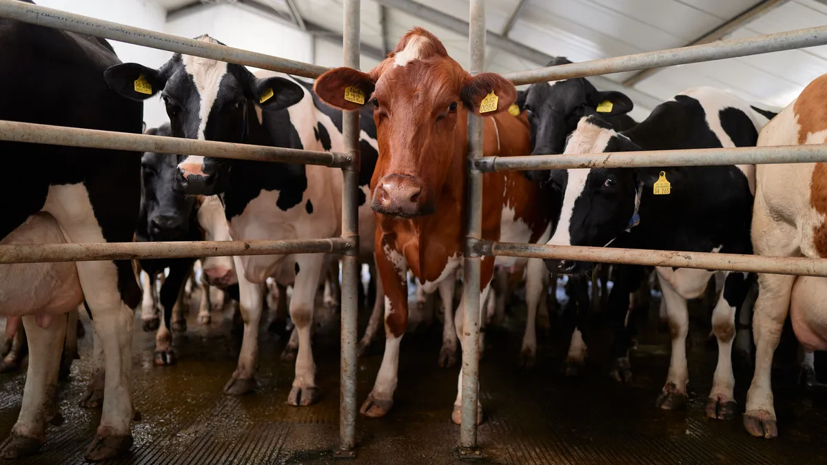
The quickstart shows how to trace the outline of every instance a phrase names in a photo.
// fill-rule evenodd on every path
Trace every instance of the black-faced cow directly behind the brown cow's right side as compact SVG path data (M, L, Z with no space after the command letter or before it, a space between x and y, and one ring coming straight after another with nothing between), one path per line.
M555 57L547 66L570 63L571 61L565 57ZM562 153L566 138L576 129L581 117L599 115L617 131L625 131L636 124L627 114L633 109L633 103L629 97L616 91L597 90L585 78L532 84L528 86L528 89L519 92L517 105L528 114L528 122L531 125L532 155ZM548 170L526 172L528 179L540 182L545 182L548 175ZM529 259L529 262L533 260L539 259ZM529 266L528 270L532 270L532 267ZM605 279L604 276L604 284ZM564 309L564 324L567 333L571 333L571 342L566 356L566 372L569 374L576 373L586 358L584 339L589 338L590 309L588 281L586 276L572 276L567 285L570 299ZM526 289L528 290L528 282ZM523 360L533 361L533 354L537 350L535 316L536 311L529 309L523 335Z

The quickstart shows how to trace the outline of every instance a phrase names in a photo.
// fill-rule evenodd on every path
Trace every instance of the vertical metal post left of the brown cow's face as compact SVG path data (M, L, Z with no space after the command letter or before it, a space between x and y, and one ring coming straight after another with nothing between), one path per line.
M359 0L344 2L344 65L359 69ZM351 165L342 169L342 237L351 247L342 255L342 383L339 457L356 457L356 286L359 283L359 112L343 112L342 136Z

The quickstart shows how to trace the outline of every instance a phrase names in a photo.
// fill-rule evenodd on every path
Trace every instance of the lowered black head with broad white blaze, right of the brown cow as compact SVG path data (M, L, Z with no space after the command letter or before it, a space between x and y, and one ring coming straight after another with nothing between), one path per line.
M566 154L640 151L597 116L584 117L566 143ZM636 224L641 202L651 201L661 168L552 170L548 184L562 194L557 228L547 242L559 246L605 247ZM666 169L667 180L680 182L680 169ZM591 264L546 260L552 273L579 274Z

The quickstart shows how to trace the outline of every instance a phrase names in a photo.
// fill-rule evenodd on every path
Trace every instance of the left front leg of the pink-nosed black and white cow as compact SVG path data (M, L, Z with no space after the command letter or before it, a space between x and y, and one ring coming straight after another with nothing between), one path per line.
M230 381L224 386L224 394L241 395L253 391L256 386L254 374L258 362L258 327L264 306L263 285L251 283L243 272L241 259L233 256L238 275L238 293L241 319L244 321L244 335L241 339L241 352L238 365Z

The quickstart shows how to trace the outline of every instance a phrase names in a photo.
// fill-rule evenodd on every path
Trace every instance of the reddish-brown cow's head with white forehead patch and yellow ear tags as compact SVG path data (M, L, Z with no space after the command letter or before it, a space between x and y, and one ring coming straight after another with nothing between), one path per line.
M335 108L374 108L379 159L370 180L371 206L404 218L433 213L449 173L464 173L468 112L480 114L480 103L492 92L498 102L485 116L509 108L517 97L499 74L468 74L421 28L405 34L370 73L330 70L314 90Z

